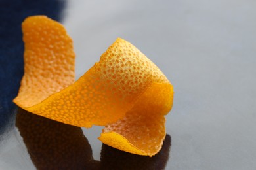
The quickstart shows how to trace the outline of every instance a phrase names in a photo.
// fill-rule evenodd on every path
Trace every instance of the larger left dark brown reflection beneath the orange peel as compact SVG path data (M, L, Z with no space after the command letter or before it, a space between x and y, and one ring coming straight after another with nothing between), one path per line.
M91 146L80 127L18 109L16 127L37 169L92 169Z

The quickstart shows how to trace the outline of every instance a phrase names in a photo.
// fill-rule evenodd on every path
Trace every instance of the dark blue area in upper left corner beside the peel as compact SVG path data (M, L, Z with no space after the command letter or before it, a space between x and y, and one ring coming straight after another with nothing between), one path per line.
M16 97L24 73L21 23L27 16L46 15L60 21L63 0L0 0L0 135L14 123Z

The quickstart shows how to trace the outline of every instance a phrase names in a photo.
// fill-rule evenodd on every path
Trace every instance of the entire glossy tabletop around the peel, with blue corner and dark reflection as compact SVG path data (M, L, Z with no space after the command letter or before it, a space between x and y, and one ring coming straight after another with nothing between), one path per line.
M74 40L77 78L121 37L158 65L175 97L159 154L110 148L97 139L102 127L68 126L10 104L23 74L23 48L21 34L9 35L10 44L0 46L0 169L256 169L255 1L77 0L26 8L18 2L4 5L16 12L12 17L22 9L20 22L38 13L64 24ZM0 20L8 25L6 18ZM3 22L1 28L7 29ZM1 36L9 31L1 29Z

